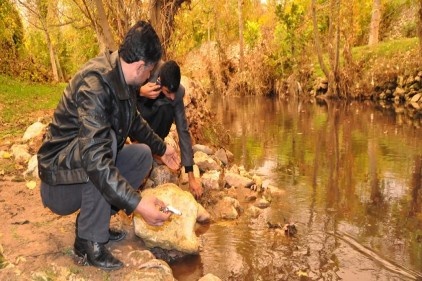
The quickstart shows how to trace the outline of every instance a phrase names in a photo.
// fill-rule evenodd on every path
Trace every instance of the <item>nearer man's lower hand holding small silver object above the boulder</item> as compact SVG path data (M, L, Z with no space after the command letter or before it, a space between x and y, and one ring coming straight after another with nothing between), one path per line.
M163 201L154 196L144 196L136 207L135 212L140 214L147 224L160 226L171 215L160 211L160 207L164 208L165 206Z

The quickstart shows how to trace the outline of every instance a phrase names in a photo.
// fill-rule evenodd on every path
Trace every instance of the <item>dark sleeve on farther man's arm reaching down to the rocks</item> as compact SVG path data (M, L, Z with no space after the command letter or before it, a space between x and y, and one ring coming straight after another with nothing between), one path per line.
M185 96L185 88L183 85L179 86L174 101L174 121L176 123L176 130L179 136L179 146L182 157L183 166L193 166L193 150L192 140L189 133L188 120L186 118L185 105L183 97Z

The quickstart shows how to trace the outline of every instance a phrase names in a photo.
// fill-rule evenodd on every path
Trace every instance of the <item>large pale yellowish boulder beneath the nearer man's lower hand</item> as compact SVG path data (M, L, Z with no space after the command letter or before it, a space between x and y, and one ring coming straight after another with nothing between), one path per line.
M146 247L197 254L199 239L195 234L195 223L198 218L204 219L205 209L200 207L192 194L172 183L146 189L142 196L146 195L154 195L182 212L181 216L173 214L163 226L151 226L141 216L135 215L135 234L143 239Z

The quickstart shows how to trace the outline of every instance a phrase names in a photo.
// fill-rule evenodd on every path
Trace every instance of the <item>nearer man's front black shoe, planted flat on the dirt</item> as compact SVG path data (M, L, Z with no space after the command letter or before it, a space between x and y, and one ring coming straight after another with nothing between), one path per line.
M93 242L76 236L74 250L77 256L86 259L88 264L95 267L104 270L116 270L123 267L123 263L107 250L104 243Z

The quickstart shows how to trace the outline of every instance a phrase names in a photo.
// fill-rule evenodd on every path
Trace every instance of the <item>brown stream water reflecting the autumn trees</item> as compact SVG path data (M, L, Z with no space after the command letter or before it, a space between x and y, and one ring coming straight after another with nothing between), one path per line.
M282 194L201 232L179 281L422 280L422 120L370 103L212 98L234 162ZM294 222L287 237L268 227Z

